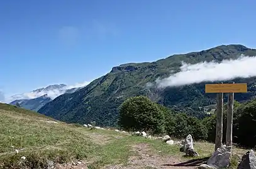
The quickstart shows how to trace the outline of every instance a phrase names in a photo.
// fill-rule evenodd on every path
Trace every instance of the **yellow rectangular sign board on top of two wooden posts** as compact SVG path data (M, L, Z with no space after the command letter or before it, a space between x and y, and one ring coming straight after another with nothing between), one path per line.
M247 93L247 83L206 84L205 93Z

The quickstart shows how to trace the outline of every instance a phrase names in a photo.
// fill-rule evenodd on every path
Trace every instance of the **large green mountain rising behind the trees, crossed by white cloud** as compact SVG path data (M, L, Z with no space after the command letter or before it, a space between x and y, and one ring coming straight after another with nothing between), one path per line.
M204 93L204 83L159 89L152 82L181 71L182 61L197 64L204 61L220 63L223 59L237 59L241 55L256 56L256 50L240 44L221 45L204 51L174 54L152 63L121 64L85 88L60 95L38 110L43 115L69 123L89 123L114 126L118 106L131 96L145 95L151 100L189 115L206 116L204 106L214 105L216 95ZM226 81L228 82L228 81ZM256 95L256 78L236 78L236 83L247 83L248 93L237 93L238 101L250 100Z

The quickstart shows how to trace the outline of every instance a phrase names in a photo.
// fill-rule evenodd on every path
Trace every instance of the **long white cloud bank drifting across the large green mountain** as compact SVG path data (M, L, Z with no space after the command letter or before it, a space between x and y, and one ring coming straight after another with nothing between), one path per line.
M234 78L256 76L256 56L241 56L238 59L223 60L221 63L203 62L187 64L182 62L181 71L169 78L157 79L158 88L182 86L203 81L225 81Z

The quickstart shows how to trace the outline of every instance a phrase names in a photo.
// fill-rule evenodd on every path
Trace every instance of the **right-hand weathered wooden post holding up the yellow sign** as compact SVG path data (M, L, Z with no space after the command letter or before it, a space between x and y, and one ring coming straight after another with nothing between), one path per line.
M235 82L233 82L234 84ZM232 146L234 93L228 93L228 111L226 115L226 146Z

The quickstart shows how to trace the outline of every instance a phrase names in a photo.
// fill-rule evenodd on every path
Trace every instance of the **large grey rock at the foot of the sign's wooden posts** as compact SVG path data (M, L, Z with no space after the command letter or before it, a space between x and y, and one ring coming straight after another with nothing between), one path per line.
M215 168L225 168L230 165L231 146L223 145L218 148L207 161L207 165Z

